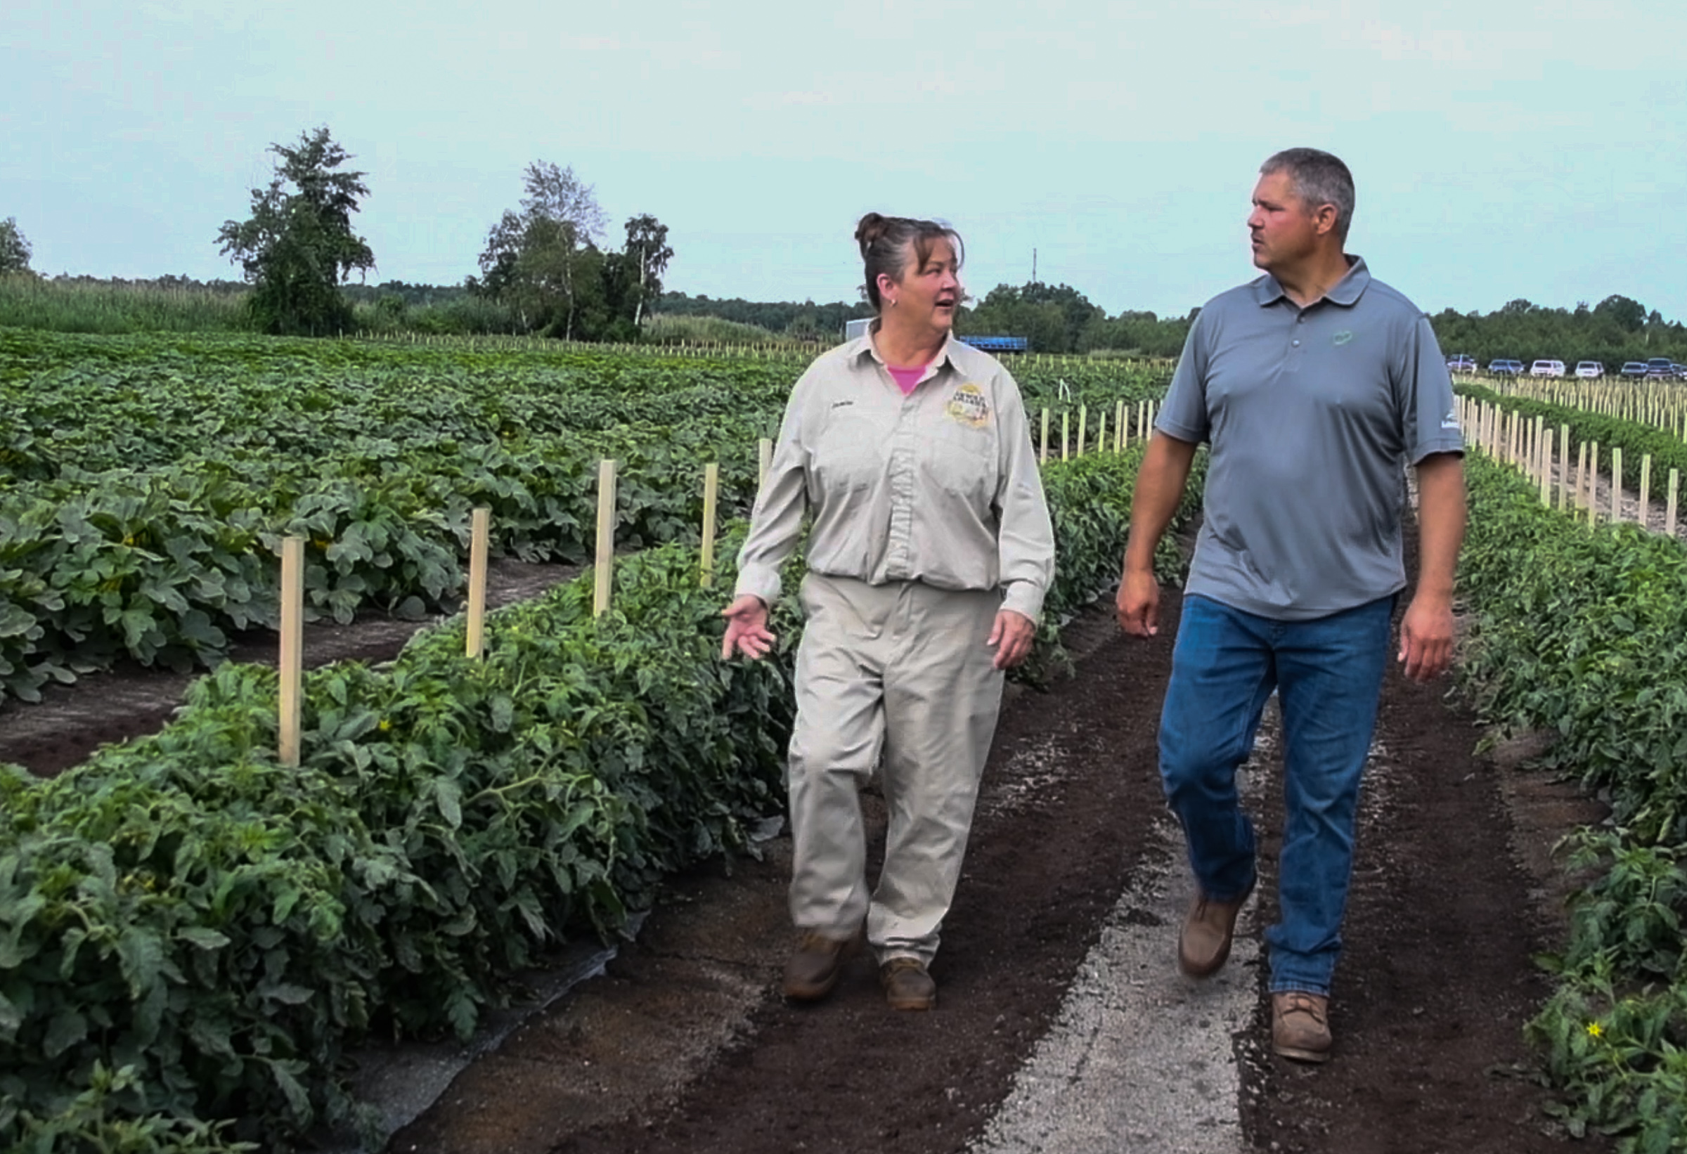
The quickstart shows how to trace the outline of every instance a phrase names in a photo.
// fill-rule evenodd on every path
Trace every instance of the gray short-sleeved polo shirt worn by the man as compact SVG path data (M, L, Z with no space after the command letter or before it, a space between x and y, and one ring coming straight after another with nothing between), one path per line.
M1350 260L1306 309L1265 275L1189 329L1154 427L1211 442L1191 594L1311 621L1405 587L1405 464L1464 437L1429 319Z

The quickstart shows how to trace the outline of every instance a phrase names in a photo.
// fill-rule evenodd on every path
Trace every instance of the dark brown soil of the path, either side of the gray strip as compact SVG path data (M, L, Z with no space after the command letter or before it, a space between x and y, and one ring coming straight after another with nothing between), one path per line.
M973 1147L1068 992L1095 985L1075 979L1103 923L1149 938L1172 965L1174 923L1120 925L1117 908L1164 869L1154 729L1176 611L1171 599L1167 628L1151 643L1102 636L1091 623L1095 648L1078 677L1005 709L933 967L936 1012L889 1012L865 958L822 1006L776 997L790 941L779 840L769 860L734 879L682 879L604 979L466 1070L390 1149ZM1338 1058L1302 1068L1267 1056L1255 963L1260 1011L1233 1048L1242 1137L1228 1141L1360 1154L1567 1149L1542 1127L1542 1092L1493 1071L1530 1060L1522 1026L1547 989L1530 955L1552 926L1540 914L1542 882L1515 864L1510 842L1550 839L1554 822L1582 815L1547 806L1535 815L1544 827L1513 828L1501 771L1473 759L1479 734L1442 693L1397 673L1385 687L1333 1011ZM1272 830L1269 855L1280 827L1269 751L1257 773L1264 781L1250 793L1262 800L1262 832ZM1243 923L1253 936L1272 916L1270 894L1262 886ZM1245 972L1247 962L1238 965ZM1199 1006L1169 1004L1162 1021L1118 1044L1157 1046L1156 1034L1188 1029L1179 1014ZM1051 1134L1027 1149L1095 1149L1063 1144L1058 1125ZM1137 1149L1134 1141L1117 1149Z

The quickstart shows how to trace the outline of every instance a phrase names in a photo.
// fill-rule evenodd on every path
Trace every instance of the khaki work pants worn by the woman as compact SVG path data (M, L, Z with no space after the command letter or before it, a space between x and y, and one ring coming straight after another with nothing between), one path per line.
M955 898L1002 704L985 644L1002 597L808 574L796 650L791 921L879 960L930 962ZM867 899L860 788L884 754L889 833Z

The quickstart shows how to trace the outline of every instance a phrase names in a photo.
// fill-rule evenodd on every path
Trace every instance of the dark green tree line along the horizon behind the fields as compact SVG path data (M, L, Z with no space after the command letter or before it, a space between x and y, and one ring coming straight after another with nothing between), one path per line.
M575 341L636 341L646 317L663 315L714 317L786 339L828 342L842 336L847 321L870 315L865 300L759 302L665 292L661 277L673 258L668 228L649 214L628 218L621 246L612 248L592 186L548 160L523 170L521 197L488 229L477 275L461 285L371 287L366 275L376 267L375 251L354 226L369 189L364 172L346 167L353 155L326 125L302 132L292 145L273 143L268 152L275 155L275 174L267 187L251 191L251 214L224 221L216 235L243 280L164 277L148 287L245 288L251 327L319 336L358 327L354 304L366 309L364 319L390 327L410 327L413 309L435 310L434 324L437 310L452 309L471 331ZM0 273L29 273L30 255L17 221L0 221ZM1198 314L1110 315L1071 285L1032 280L997 285L960 309L955 326L962 336L1026 337L1038 353L1174 358ZM1522 299L1488 314L1444 309L1431 324L1449 356L1468 354L1483 364L1495 358L1598 359L1614 369L1653 356L1687 361L1687 327L1625 295L1574 309Z

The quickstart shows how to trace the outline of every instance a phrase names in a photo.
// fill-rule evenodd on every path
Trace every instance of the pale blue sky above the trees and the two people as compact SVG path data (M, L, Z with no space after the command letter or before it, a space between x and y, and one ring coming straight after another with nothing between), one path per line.
M12 0L0 218L39 272L234 277L265 147L368 170L371 280L455 283L535 159L668 285L854 299L869 211L941 216L980 295L1031 273L1181 314L1252 275L1287 145L1355 172L1351 251L1429 310L1687 317L1687 3L408 3Z

